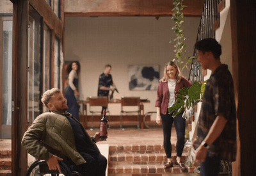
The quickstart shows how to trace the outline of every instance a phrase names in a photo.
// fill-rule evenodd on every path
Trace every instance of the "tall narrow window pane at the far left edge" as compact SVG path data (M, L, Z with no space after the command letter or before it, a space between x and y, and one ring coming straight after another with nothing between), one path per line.
M12 17L0 17L1 138L10 138L12 125ZM0 91L1 92L1 91ZM9 126L9 127L8 127Z

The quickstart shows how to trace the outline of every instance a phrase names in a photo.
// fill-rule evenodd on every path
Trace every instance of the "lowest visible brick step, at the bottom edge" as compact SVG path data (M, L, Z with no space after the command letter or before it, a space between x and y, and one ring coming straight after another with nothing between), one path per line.
M180 170L179 166L164 169L163 165L117 165L108 168L109 176L118 175L170 175L170 173L194 173L195 167Z

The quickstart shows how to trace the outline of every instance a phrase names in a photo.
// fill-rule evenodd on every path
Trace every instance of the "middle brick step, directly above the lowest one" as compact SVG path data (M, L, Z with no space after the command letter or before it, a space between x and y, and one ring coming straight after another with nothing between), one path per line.
M188 156L182 156L182 161L186 161ZM173 161L176 160L176 155L172 155ZM166 154L113 154L109 156L109 166L116 165L132 165L132 164L159 164L166 163Z

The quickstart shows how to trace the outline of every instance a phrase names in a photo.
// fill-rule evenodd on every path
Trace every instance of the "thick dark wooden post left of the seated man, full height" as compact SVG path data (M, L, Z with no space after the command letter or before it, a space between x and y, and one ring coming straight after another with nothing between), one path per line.
M27 152L21 146L28 128L28 0L13 3L12 175L26 175Z

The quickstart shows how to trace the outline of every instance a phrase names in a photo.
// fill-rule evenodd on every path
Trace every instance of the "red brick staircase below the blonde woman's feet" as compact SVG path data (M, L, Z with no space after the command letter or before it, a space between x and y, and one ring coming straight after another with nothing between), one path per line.
M173 159L176 159L175 146L173 147ZM184 149L182 161L186 161L188 151ZM179 166L164 169L166 156L163 145L110 145L109 146L109 176L146 176L146 175L170 175L170 173L194 172L194 168L180 170Z

